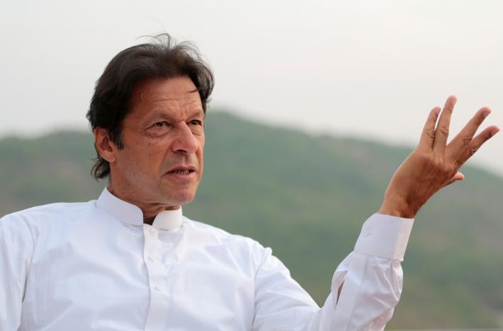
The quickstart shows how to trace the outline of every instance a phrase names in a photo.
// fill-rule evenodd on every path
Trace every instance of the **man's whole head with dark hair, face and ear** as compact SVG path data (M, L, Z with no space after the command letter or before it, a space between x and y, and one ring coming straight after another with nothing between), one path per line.
M140 204L190 202L203 173L203 120L213 84L197 50L169 35L117 54L87 113L98 153L94 177L110 176L113 190Z

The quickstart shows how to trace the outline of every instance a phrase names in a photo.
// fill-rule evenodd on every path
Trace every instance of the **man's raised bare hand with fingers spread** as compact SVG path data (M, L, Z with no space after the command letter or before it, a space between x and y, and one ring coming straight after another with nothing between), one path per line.
M481 108L447 144L455 104L455 96L447 98L438 124L436 120L439 118L440 108L431 110L419 145L393 175L378 213L414 218L419 208L442 187L456 180L464 180L464 175L458 171L460 166L473 156L485 141L499 132L498 127L491 126L473 137L491 112L489 108Z

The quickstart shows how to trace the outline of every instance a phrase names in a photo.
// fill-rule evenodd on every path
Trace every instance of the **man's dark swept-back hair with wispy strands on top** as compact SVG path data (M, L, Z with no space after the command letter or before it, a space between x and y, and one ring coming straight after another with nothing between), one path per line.
M204 62L192 43L177 43L164 33L152 37L152 42L132 46L118 53L96 81L86 115L91 129L106 129L111 141L119 149L123 149L122 122L130 111L134 88L138 83L149 79L177 76L188 76L192 80L206 113L215 79L210 66ZM94 147L96 149L96 145ZM110 175L110 164L101 157L97 149L96 153L91 175L99 180Z

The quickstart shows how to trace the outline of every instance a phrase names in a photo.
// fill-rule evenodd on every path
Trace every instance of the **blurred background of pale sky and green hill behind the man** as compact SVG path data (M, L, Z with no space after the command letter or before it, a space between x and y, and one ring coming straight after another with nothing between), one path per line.
M502 1L4 1L0 215L95 199L85 119L125 47L170 33L215 72L193 218L273 248L322 304L361 224L458 97L503 127ZM390 329L503 327L503 134L419 213Z

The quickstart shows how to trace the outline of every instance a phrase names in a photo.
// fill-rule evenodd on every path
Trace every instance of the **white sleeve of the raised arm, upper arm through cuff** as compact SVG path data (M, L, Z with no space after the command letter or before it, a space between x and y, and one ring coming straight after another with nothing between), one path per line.
M354 251L337 267L322 308L266 248L255 277L253 330L384 330L402 293L400 262L412 223L373 214Z

